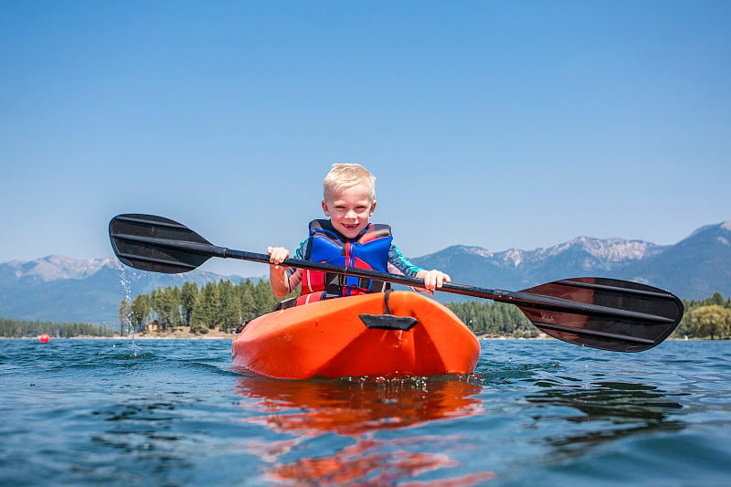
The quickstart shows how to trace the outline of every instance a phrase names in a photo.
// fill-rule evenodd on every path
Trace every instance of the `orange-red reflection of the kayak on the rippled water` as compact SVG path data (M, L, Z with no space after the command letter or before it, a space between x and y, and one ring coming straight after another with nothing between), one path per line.
M282 381L242 376L237 392L254 411L246 421L292 435L246 448L259 456L271 482L339 485L473 485L493 477L489 471L450 476L459 461L450 450L459 435L429 434L433 421L483 412L482 391L469 377L408 377L388 380ZM397 435L389 430L398 429ZM414 429L413 435L403 429ZM445 476L446 475L446 476ZM413 485L413 483L412 483Z

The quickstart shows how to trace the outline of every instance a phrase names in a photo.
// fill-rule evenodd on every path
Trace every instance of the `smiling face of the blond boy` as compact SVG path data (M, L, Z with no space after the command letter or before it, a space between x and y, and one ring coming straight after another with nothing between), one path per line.
M323 199L323 211L333 227L347 238L355 238L368 225L376 202L365 185L338 188Z

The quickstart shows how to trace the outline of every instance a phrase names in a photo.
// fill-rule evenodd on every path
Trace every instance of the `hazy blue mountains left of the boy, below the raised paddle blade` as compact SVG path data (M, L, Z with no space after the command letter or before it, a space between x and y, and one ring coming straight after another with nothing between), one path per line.
M117 259L69 259L51 255L0 264L0 317L52 322L119 323L125 296L132 299L158 287L198 285L239 276L193 270L160 274L122 266Z

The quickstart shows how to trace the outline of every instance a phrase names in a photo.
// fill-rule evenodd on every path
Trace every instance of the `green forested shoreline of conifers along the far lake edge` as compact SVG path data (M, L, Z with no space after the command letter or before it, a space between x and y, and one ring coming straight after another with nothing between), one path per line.
M187 281L182 288L167 286L123 299L119 307L120 326L116 333L172 333L185 330L194 334L233 333L238 325L270 312L277 302L268 281L251 280L234 284L228 280L198 286ZM716 292L700 301L683 300L683 320L675 338L728 339L731 337L731 298ZM450 302L447 306L473 333L488 337L535 338L542 333L516 306L488 300ZM0 318L0 337L112 336L115 331L89 323L47 323Z

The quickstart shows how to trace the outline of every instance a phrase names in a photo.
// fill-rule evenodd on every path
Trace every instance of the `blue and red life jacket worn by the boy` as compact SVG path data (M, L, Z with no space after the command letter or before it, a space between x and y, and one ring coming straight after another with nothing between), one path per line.
M357 269L387 272L388 251L391 249L391 227L368 224L356 238L346 238L335 230L330 220L310 222L310 238L304 258ZM355 276L344 276L321 270L302 270L302 296L297 304L367 292L383 292L387 283Z

